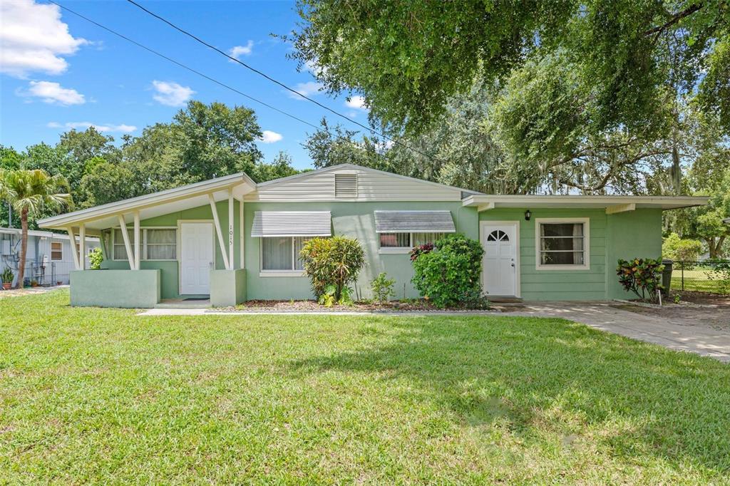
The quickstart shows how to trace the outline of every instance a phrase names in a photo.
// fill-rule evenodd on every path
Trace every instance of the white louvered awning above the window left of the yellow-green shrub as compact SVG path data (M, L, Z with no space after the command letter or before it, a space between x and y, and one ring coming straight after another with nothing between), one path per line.
M256 211L251 236L332 236L329 211Z

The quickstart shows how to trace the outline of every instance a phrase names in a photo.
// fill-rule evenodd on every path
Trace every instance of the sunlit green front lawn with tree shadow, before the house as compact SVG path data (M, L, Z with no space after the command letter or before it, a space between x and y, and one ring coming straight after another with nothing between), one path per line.
M564 320L0 316L0 484L729 482L730 366Z

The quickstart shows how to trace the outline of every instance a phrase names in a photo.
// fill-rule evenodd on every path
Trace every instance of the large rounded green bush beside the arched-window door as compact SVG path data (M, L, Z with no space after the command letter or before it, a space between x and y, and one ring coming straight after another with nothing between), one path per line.
M412 282L420 295L438 307L472 306L482 300L480 242L463 234L450 234L433 249L411 252L415 275Z

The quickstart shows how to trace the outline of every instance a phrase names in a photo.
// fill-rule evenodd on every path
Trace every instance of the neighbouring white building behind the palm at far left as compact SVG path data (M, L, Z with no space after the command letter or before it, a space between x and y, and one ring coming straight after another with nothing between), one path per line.
M0 228L0 272L8 268L18 279L20 265L21 231L18 228ZM77 237L78 241L78 237ZM86 237L86 266L88 252L99 247L99 238ZM26 278L38 285L66 285L69 272L74 269L74 257L69 235L51 231L28 231ZM13 282L13 285L16 281Z

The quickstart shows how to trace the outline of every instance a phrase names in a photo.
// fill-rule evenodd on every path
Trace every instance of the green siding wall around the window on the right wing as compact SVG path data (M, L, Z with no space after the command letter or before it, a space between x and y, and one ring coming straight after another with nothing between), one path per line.
M491 209L480 221L520 222L520 296L526 301L604 300L630 298L618 285L618 258L658 258L661 253L661 210L637 209L606 215L604 209ZM590 267L585 270L538 270L535 220L553 217L588 217Z

